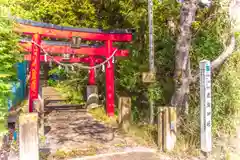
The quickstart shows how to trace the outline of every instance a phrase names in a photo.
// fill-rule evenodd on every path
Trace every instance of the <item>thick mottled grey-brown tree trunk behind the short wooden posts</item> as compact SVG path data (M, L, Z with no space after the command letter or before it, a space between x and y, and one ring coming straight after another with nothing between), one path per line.
M189 50L191 47L191 24L195 20L197 0L184 1L180 13L180 33L175 50L175 91L171 105L178 111L187 110L188 93L191 80Z

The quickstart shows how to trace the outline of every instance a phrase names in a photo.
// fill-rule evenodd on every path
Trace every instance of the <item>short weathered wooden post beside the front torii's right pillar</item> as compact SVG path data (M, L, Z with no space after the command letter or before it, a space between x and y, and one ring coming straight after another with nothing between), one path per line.
M119 107L119 117L118 121L121 128L124 131L128 131L132 116L131 116L131 98L130 97L119 97L118 100L118 107Z

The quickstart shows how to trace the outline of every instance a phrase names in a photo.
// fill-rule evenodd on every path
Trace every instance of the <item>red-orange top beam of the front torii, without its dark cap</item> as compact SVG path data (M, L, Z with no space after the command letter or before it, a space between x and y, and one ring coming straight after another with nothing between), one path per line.
M14 28L15 32L23 34L40 34L43 37L53 38L65 38L71 39L73 36L81 37L84 40L94 41L119 41L119 42L130 42L132 41L131 33L88 33L88 32L77 32L68 30L57 30L51 28L43 28L38 26L31 26L26 24L17 24Z

